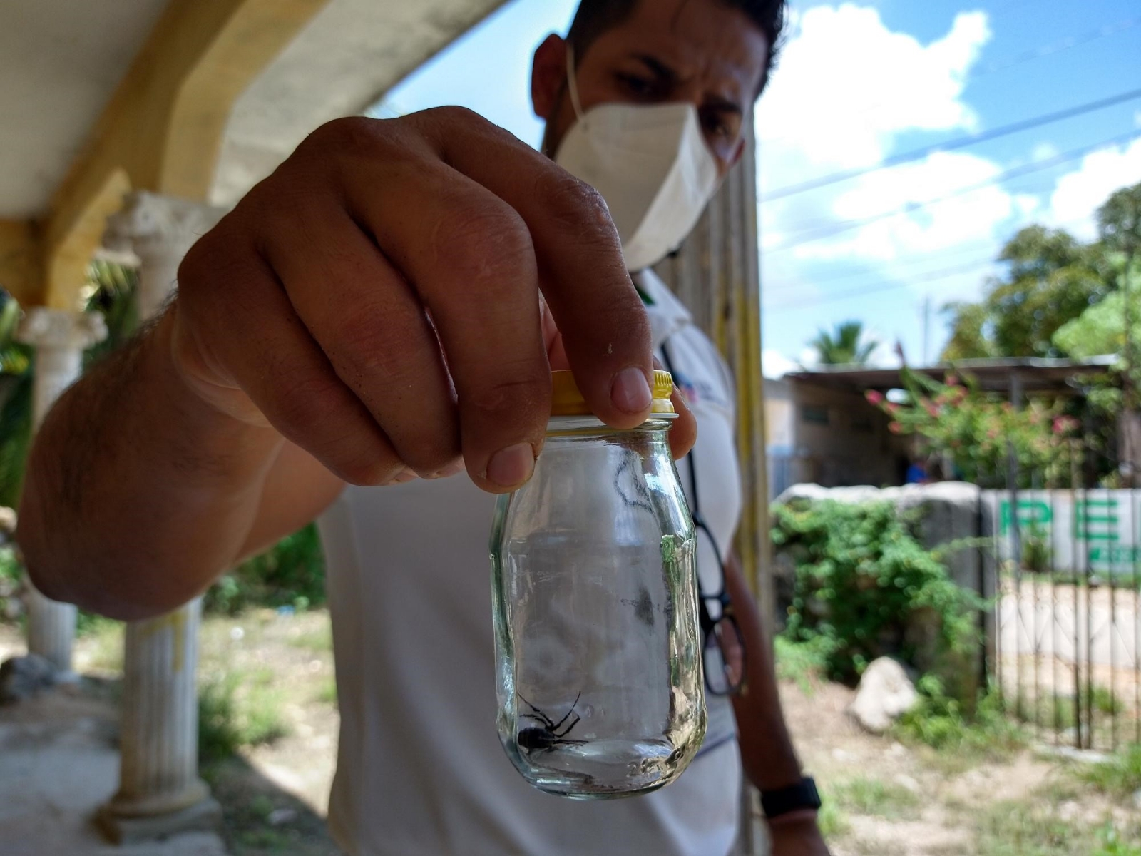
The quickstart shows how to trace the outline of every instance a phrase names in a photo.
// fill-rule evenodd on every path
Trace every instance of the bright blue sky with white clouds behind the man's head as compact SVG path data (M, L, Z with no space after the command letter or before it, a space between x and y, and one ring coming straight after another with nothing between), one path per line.
M566 32L575 5L513 0L377 114L462 104L537 144L531 54ZM925 338L933 358L947 336L940 307L978 297L1006 239L1031 223L1092 237L1097 205L1141 181L1141 98L874 170L893 154L1141 89L1141 0L794 0L793 10L756 112L769 374L808 360L817 330L849 318L883 342L881 362L897 340L921 361ZM1082 156L1039 168L1074 151ZM1017 168L1035 171L1002 180ZM874 171L763 201L842 169Z

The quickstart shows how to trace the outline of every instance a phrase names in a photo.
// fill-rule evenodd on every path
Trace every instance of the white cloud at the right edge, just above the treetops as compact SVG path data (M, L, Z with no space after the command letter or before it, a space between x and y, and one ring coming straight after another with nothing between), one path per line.
M1138 181L1141 181L1141 139L1098 150L1058 180L1045 219L1079 239L1092 240L1098 235L1098 209L1114 191Z

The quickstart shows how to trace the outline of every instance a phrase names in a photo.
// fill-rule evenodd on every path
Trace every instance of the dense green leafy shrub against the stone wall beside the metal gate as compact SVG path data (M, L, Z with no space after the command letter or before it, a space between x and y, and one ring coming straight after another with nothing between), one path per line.
M925 671L977 638L979 599L916 540L916 514L794 500L774 517L772 540L795 566L785 636L812 643L828 677L850 681L887 654Z

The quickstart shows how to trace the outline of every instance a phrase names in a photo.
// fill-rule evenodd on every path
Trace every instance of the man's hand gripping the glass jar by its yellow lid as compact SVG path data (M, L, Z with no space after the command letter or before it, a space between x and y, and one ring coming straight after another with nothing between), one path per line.
M540 293L594 413L640 423L649 325L601 197L466 110L343 119L187 255L173 357L202 399L347 482L462 457L503 492L531 476L550 413Z

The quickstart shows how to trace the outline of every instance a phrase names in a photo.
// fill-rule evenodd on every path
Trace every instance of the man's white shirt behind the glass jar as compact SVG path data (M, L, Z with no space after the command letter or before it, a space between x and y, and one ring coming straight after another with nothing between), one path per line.
M701 512L722 554L741 515L729 372L657 277L639 285L698 422ZM679 465L689 491L688 463ZM733 712L707 695L702 753L624 800L534 790L495 730L488 533L495 499L459 476L348 487L319 520L341 734L329 825L350 856L723 856L738 829ZM698 538L705 591L720 586Z

